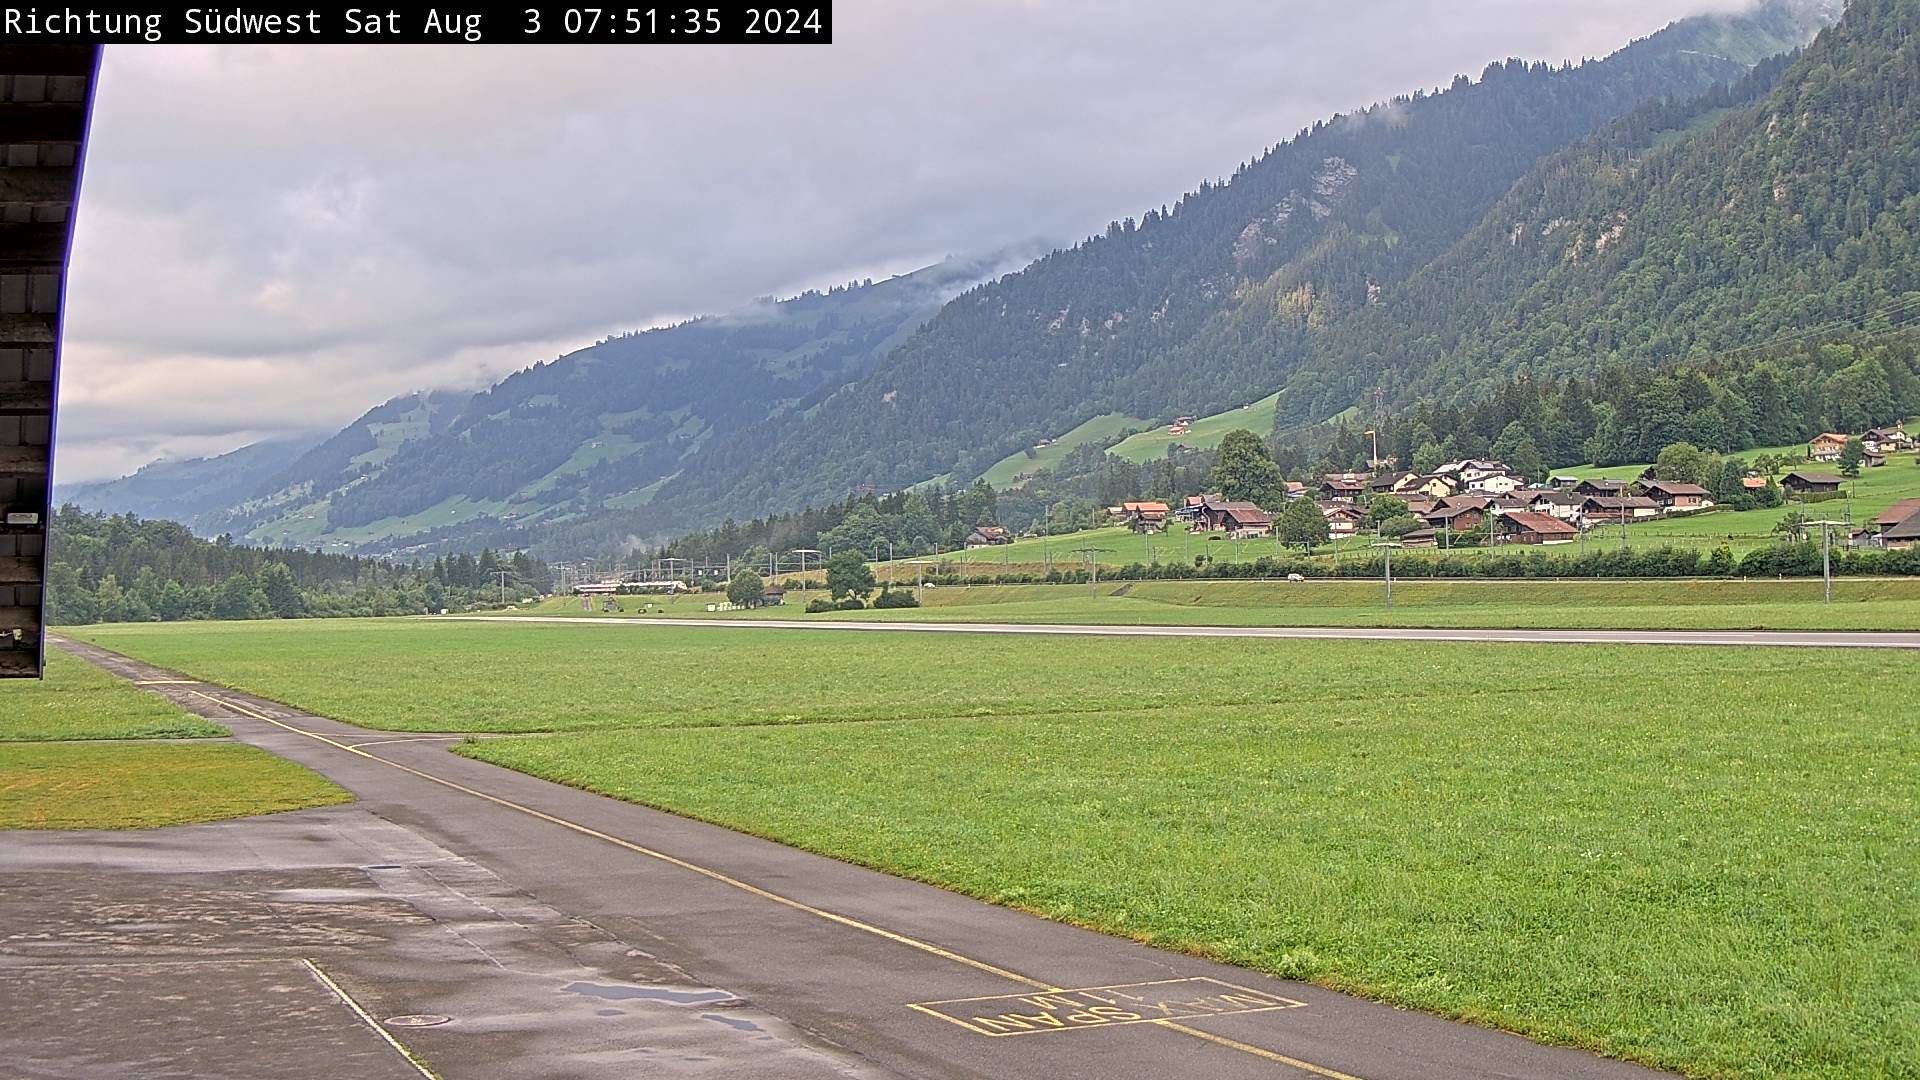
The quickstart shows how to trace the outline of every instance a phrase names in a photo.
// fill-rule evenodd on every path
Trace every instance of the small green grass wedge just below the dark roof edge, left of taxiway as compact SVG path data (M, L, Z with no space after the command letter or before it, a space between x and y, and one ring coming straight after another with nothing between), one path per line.
M0 742L223 734L227 728L58 650L48 651L44 682L0 680Z

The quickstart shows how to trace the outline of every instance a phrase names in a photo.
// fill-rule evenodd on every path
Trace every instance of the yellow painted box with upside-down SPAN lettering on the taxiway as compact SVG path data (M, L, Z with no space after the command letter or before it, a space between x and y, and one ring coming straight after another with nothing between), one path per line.
M989 994L908 1005L987 1038L1091 1032L1125 1024L1198 1020L1304 1009L1306 1001L1235 986L1219 978L1156 978L1044 994Z

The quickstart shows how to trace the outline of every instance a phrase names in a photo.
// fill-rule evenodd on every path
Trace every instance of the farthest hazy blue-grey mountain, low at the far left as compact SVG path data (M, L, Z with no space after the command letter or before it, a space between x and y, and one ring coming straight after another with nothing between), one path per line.
M292 465L317 442L317 436L276 438L242 446L219 457L154 461L117 480L61 486L56 500L104 513L165 517L205 532L223 517L223 511L252 498L255 488Z

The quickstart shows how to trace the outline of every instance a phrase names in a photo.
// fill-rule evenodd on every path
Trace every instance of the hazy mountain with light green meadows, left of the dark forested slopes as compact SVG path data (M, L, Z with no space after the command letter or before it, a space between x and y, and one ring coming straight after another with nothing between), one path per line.
M1023 261L948 259L762 300L609 338L480 394L396 398L194 519L257 544L388 552L632 511L714 438L818 407L947 300Z

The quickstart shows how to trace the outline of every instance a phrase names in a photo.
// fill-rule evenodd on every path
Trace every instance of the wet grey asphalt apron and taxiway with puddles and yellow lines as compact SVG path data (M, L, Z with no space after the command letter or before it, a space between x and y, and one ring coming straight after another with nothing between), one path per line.
M182 678L67 648L132 680ZM392 1045L384 1072L346 1061L378 1051L384 1026L447 1080L1655 1076L549 784L447 753L447 736L371 732L192 680L150 690L361 801L148 834L0 834L0 1061L38 1038L38 992L6 969L198 963L180 1026L211 1032L227 1022L219 988L267 999L257 980L292 984L292 965L313 961L376 1020L367 1036L342 1026L346 1003L323 1009L301 984L286 1013L332 1024L307 1038L342 1047L319 1068L298 1036L186 1040L167 1061L205 1053L194 1074L225 1076L223 1055L252 1042L269 1057L250 1076L407 1076ZM54 892L12 903L15 886ZM280 967L228 974L232 961ZM378 1024L396 1015L451 1020ZM92 1030L61 1038L106 1047L88 1061L146 1061L144 1040L115 1051L117 1026ZM111 1074L52 1061L29 1076Z

